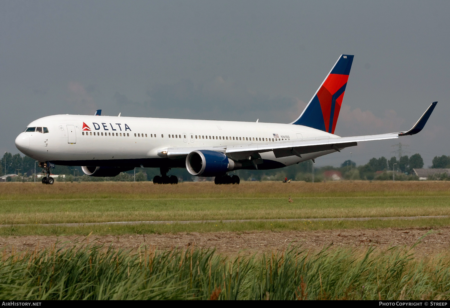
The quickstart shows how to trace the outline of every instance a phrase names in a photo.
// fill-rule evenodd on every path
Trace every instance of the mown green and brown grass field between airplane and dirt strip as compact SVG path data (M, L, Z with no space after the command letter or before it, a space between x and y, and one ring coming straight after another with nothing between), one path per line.
M229 219L288 219L342 217L440 216L450 214L448 182L327 183L243 182L219 185L211 182L153 185L152 183L0 183L0 223L29 224L14 227L33 234L42 223L123 221L191 221ZM291 196L293 203L288 202ZM447 226L450 219L368 222L246 222L220 223L220 230L300 230L337 227ZM213 231L219 225L172 224L140 226L154 232ZM313 226L315 225L315 226ZM94 227L78 228L84 234ZM100 233L135 230L136 226L98 226ZM111 229L110 229L111 228ZM71 228L63 228L68 231ZM66 230L67 229L67 230ZM84 230L86 229L86 230ZM36 230L36 231L33 231ZM72 230L74 230L72 228ZM83 231L81 231L83 230ZM75 231L75 230L74 230ZM100 230L99 230L100 231ZM217 230L219 231L219 230ZM0 234L6 230L0 230ZM30 233L31 232L31 233ZM69 231L69 233L71 233Z

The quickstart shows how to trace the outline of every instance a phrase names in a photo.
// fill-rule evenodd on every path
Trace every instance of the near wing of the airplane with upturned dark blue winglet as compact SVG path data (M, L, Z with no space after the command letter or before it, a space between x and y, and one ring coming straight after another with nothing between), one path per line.
M423 113L419 121L409 130L380 135L367 135L367 136L353 136L353 137L315 137L304 138L302 140L283 140L264 144L251 144L251 145L229 145L224 147L202 147L201 149L210 149L218 152L225 153L231 159L243 160L243 159L258 159L259 153L273 151L276 158L297 155L302 157L302 154L320 152L325 150L334 149L339 151L341 149L355 146L361 141L371 140L386 140L396 139L399 136L407 136L417 134L423 129L425 123L428 121L433 109L436 107L437 102L433 102L428 109ZM187 156L190 152L196 150L196 148L168 148L166 153L168 158L175 159Z

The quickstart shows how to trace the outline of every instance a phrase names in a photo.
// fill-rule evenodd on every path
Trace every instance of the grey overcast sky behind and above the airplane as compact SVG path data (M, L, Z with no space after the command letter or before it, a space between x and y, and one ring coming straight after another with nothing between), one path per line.
M335 133L424 130L317 159L449 155L449 1L0 1L0 151L50 114L288 123L340 54ZM352 152L352 154L350 154Z

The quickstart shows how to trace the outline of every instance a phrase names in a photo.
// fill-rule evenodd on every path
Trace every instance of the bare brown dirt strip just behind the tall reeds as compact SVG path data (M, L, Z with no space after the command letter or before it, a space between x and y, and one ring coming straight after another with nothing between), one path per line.
M140 245L166 248L216 248L222 254L241 255L270 252L286 249L289 244L302 245L308 250L319 250L324 246L357 248L377 246L414 245L429 230L411 229L346 229L322 231L259 231L259 232L210 232L210 233L178 233L178 234L145 234L126 236L7 236L0 237L0 249L5 252L34 250L66 245L112 245L117 249L138 249ZM450 250L450 227L433 231L414 249L416 255L427 256Z

